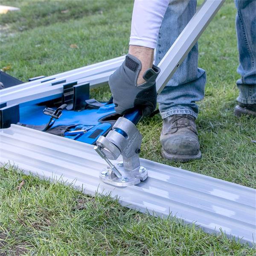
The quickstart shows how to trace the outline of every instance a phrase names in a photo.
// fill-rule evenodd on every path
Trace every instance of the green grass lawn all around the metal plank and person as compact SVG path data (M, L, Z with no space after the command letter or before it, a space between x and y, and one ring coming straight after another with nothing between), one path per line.
M0 16L0 68L10 66L6 72L23 81L128 51L130 0L0 3L20 7L20 12ZM251 142L256 140L255 119L233 116L239 78L235 14L233 0L227 0L199 40L199 66L207 70L197 119L202 160L163 160L159 115L138 125L143 134L140 156L255 188L256 144ZM98 100L110 97L108 88L94 89L92 94ZM121 207L108 196L91 198L69 186L1 168L0 256L23 254L240 256L255 251L195 226Z

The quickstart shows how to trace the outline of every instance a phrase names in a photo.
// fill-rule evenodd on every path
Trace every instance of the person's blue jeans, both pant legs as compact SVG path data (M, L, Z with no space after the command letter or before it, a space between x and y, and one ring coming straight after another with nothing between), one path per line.
M235 0L238 10L236 29L239 49L237 81L241 103L256 103L256 1ZM196 0L172 0L160 27L156 64L160 62L172 46L180 32L196 12ZM195 103L204 98L206 73L198 68L198 45L196 44L172 79L158 96L162 118L174 114L190 114L197 118L198 105Z

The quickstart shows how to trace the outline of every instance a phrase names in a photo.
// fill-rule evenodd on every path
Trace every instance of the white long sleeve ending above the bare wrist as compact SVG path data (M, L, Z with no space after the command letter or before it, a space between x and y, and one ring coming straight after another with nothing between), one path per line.
M130 45L155 49L163 16L170 0L134 0Z

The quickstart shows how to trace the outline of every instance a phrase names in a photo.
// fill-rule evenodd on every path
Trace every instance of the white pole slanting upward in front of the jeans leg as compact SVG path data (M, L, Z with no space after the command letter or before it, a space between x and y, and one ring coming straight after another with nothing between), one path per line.
M224 0L206 0L172 44L158 64L161 69L156 81L158 94L161 93L223 3Z

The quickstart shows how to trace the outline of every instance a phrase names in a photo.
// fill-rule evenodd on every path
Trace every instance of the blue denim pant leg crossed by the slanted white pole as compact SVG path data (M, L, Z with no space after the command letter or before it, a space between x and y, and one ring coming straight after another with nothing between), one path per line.
M196 12L196 0L172 0L160 27L155 62L158 64ZM206 73L198 68L196 44L157 98L162 118L174 114L198 116L195 103L204 98Z

